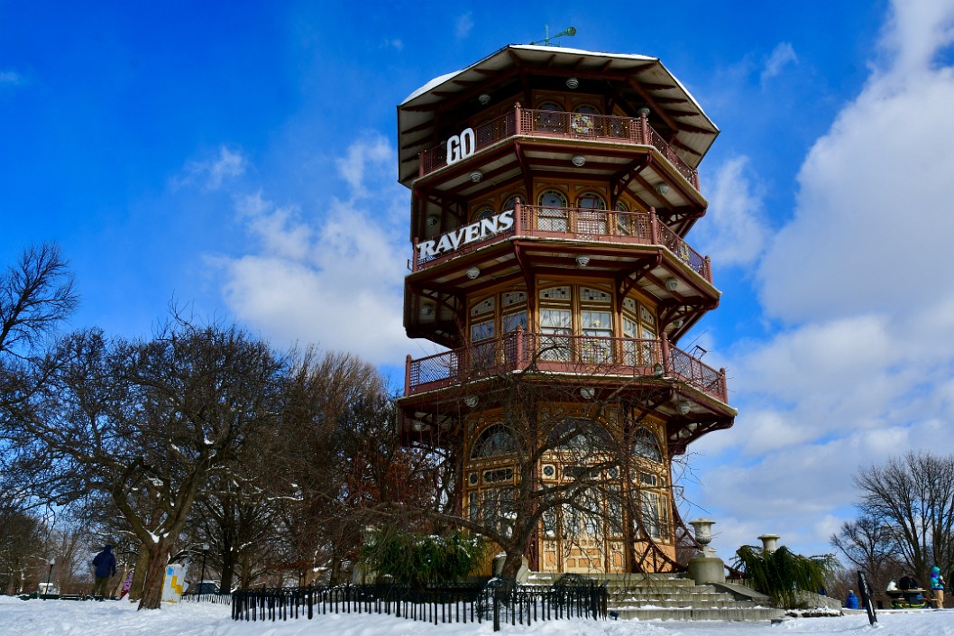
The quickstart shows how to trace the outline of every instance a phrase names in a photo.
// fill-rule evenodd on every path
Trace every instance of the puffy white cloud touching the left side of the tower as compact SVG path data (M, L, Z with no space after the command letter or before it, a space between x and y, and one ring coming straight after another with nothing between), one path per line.
M384 138L352 144L338 161L349 200L329 198L314 222L298 205L280 206L261 192L237 200L239 222L257 247L212 262L240 321L282 344L347 350L376 365L403 361L410 246L406 193L391 183L396 160Z

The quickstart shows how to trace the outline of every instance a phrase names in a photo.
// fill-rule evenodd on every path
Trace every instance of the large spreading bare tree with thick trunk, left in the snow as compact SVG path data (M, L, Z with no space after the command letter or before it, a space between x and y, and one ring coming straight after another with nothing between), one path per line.
M64 338L51 380L8 435L34 493L65 504L107 493L146 562L140 608L157 608L170 552L208 476L275 419L284 361L236 327L173 321L148 341ZM141 567L139 568L142 569Z

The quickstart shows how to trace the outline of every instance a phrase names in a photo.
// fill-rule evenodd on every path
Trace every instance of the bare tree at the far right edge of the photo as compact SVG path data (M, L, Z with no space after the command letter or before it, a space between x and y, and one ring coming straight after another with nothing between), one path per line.
M890 528L904 563L926 581L954 564L954 456L908 453L855 476L862 514Z

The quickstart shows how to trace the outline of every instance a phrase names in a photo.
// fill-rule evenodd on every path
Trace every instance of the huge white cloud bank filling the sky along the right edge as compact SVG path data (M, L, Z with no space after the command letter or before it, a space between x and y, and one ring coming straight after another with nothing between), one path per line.
M751 535L743 541L774 532L825 551L852 514L861 465L954 452L944 434L954 420L954 68L939 64L954 43L954 3L940 4L896 2L883 54L805 158L793 218L758 264L766 320L781 329L736 344L726 362L736 425L693 446L698 504L733 541L741 535L726 525ZM731 168L727 184L738 182ZM732 209L716 205L719 191L706 223Z

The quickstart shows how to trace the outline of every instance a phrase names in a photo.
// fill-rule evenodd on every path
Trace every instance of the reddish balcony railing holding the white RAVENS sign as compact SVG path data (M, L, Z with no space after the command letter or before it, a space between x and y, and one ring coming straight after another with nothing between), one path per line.
M464 227L457 232L465 232ZM444 263L488 244L513 237L549 237L575 241L598 241L612 244L662 245L674 257L692 268L699 276L712 283L712 264L666 223L660 223L655 211L616 212L576 207L546 207L517 203L513 210L513 225L503 232L463 244L458 249L437 256L425 255L419 243L414 244L411 270L418 271Z

